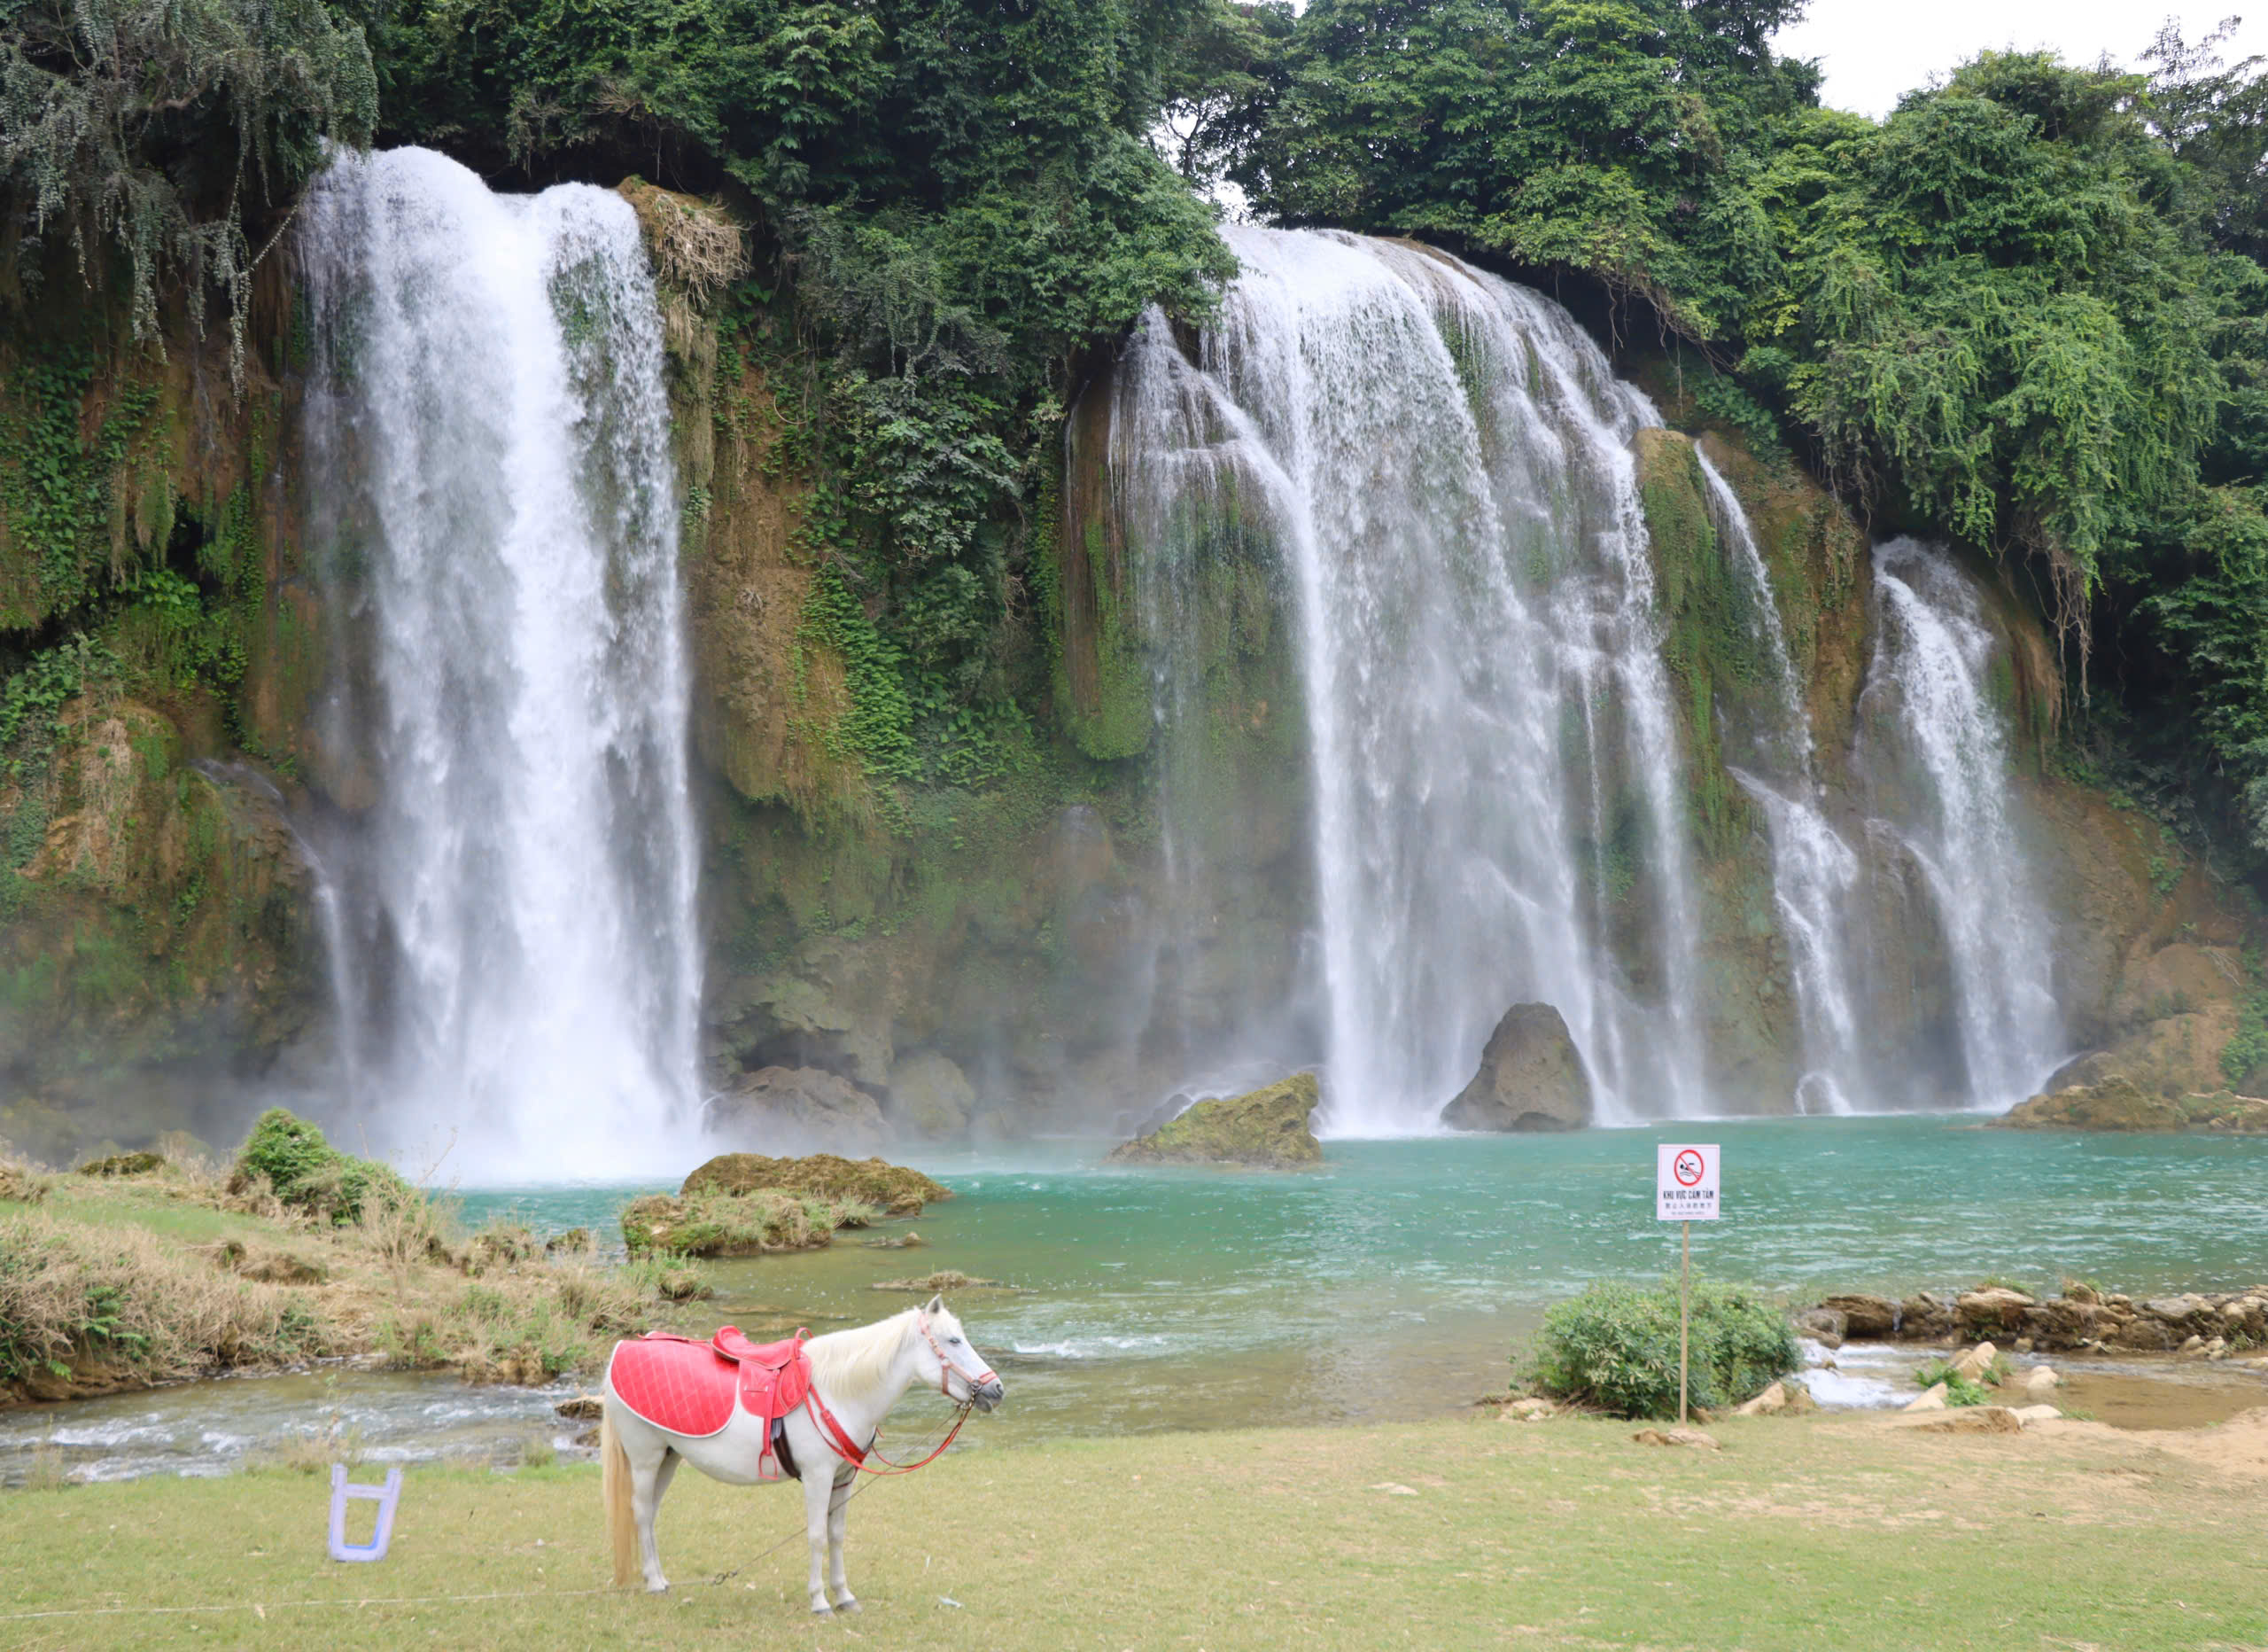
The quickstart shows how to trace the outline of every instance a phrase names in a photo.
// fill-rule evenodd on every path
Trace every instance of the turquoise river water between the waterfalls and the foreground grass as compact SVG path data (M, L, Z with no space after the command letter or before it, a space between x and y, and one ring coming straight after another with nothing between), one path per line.
M1966 1116L1746 1119L1683 1135L1724 1144L1724 1221L1696 1228L1696 1271L1789 1300L1987 1273L2139 1293L2268 1280L2263 1139L2032 1135ZM1549 1303L1676 1266L1676 1230L1653 1221L1656 1139L1667 1135L1329 1141L1313 1173L1100 1169L1100 1144L1075 1141L925 1160L953 1200L830 1250L705 1264L717 1298L678 1309L676 1328L832 1330L919 1300L875 1289L887 1280L957 1268L1016 1287L955 1293L1009 1386L1007 1407L973 1425L989 1443L1427 1416L1501 1391ZM635 1191L653 1189L458 1198L472 1223L612 1239ZM909 1228L921 1248L866 1244ZM1892 1389L1901 1375L1889 1355L1846 1366ZM2250 1402L2268 1402L2259 1373L2211 1377L2257 1384ZM581 1386L331 1371L113 1396L0 1414L0 1475L20 1477L34 1452L82 1477L218 1473L333 1425L379 1461L510 1459L524 1441L569 1439L551 1405ZM937 1396L912 1396L898 1439L943 1414Z

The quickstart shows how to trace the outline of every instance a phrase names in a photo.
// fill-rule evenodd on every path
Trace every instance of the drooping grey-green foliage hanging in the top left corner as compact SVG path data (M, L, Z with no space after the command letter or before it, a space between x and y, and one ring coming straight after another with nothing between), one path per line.
M14 0L0 9L0 195L86 279L127 270L154 340L179 279L202 327L229 295L243 365L252 229L290 204L327 143L370 141L376 82L356 23L322 0Z

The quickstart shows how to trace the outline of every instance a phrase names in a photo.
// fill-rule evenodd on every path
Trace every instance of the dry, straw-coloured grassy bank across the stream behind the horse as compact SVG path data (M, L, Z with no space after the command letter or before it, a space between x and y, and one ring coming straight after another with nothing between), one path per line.
M318 1357L544 1382L594 1368L699 1289L680 1262L608 1266L587 1237L467 1232L399 1180L383 1198L349 1182L340 1207L286 1203L288 1185L240 1162L0 1169L0 1405Z

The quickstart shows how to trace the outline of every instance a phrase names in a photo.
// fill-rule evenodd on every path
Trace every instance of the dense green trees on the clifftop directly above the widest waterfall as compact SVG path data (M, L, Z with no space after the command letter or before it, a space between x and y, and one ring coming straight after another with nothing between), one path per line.
M1712 338L1769 279L1746 152L1805 107L1789 0L1315 0L1216 73L1259 86L1200 145L1295 225L1447 236L1581 270Z

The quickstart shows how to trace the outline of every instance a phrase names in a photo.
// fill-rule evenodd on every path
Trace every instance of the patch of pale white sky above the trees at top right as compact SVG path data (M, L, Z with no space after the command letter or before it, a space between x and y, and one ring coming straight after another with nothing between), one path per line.
M2050 45L2071 64L2109 52L2136 68L2168 16L2195 41L2245 9L2243 0L1812 0L1810 16L1771 45L1783 57L1819 59L1821 102L1880 118L1901 93L1982 50ZM2229 61L2252 52L2268 54L2268 0L2250 0L2250 16L2223 48Z

